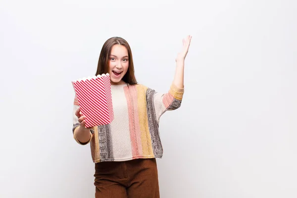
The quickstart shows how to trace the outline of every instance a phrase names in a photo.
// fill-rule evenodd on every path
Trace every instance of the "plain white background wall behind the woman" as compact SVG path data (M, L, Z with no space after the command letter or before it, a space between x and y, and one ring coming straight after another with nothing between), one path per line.
M297 2L167 3L1 0L1 198L93 198L71 81L121 36L138 81L167 92L188 34L182 107L160 123L161 197L297 197Z

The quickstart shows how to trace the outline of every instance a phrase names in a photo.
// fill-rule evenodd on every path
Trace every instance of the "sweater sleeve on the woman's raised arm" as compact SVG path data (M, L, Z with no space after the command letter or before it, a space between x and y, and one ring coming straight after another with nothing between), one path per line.
M147 90L147 105L153 110L157 122L161 115L167 110L175 110L181 106L184 88L180 89L171 85L168 93L157 93L152 89Z

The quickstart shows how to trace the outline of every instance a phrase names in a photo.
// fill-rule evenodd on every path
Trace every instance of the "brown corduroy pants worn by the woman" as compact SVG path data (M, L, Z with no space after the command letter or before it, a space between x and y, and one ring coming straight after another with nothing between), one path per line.
M159 198L156 159L95 164L96 198Z

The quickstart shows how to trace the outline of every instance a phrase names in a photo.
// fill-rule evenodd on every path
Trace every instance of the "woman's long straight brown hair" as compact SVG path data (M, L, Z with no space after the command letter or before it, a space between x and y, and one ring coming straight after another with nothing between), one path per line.
M130 85L135 85L137 84L137 81L134 75L132 51L130 49L128 42L121 37L112 37L105 41L105 43L103 44L99 55L96 76L99 74L102 75L103 73L106 74L108 72L110 52L112 47L116 44L125 46L127 48L129 56L129 67L122 80Z

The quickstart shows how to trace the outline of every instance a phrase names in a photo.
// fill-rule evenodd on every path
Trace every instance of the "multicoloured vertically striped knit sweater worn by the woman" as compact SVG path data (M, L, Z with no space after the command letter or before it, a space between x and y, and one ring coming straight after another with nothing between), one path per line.
M137 158L161 158L163 148L159 136L159 119L167 110L180 107L184 89L171 85L169 92L160 94L143 85L112 85L114 119L110 124L93 127L91 139L92 159L126 161ZM79 107L74 99L73 136L79 127L75 111Z

